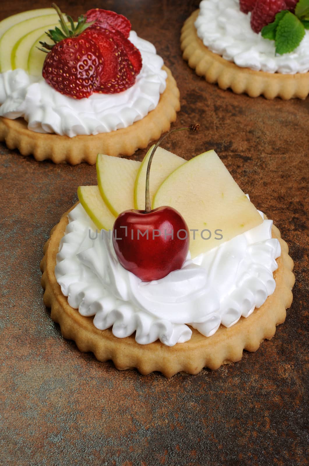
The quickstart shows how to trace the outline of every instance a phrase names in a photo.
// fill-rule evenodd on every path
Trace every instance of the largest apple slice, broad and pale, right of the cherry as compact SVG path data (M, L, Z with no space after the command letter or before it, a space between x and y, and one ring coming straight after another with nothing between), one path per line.
M171 206L184 217L191 230L192 257L263 221L215 151L204 152L173 171L155 194L152 208L159 206Z

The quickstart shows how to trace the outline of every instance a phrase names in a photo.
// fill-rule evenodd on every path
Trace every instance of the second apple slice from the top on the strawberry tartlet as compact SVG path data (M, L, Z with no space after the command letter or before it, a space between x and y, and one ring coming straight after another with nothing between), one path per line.
M38 27L56 24L58 15L46 14L30 18L7 29L0 39L0 72L12 69L12 50L17 41Z

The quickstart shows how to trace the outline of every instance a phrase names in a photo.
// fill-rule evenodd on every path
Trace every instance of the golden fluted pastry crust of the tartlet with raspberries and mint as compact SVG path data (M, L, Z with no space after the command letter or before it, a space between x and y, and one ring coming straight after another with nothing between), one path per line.
M263 95L267 99L281 97L288 100L308 96L309 73L283 75L240 68L208 50L194 26L198 14L199 10L194 11L185 21L180 37L183 58L197 75L204 76L207 82L217 82L221 89L231 88L235 94L246 93L250 97Z

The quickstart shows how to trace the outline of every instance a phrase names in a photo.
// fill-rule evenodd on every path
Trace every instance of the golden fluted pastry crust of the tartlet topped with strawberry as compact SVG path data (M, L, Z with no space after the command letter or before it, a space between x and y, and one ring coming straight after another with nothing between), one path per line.
M171 71L165 66L163 69L167 72L166 89L157 107L127 128L96 136L68 137L30 131L23 118L0 117L0 141L5 141L9 149L18 149L24 156L33 154L36 160L51 159L55 164L95 164L98 153L130 156L157 140L176 120L176 112L180 109L179 89Z

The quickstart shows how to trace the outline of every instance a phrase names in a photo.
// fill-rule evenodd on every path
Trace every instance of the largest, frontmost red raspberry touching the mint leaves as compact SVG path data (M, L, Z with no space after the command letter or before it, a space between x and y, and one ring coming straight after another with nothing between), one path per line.
M251 13L251 27L259 33L264 26L275 21L275 15L287 8L284 0L257 0Z

